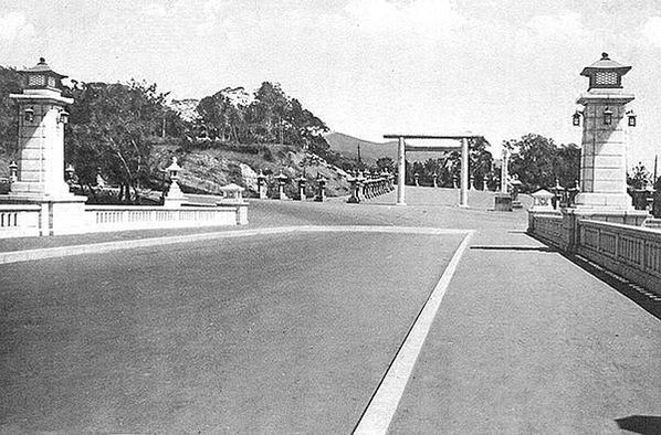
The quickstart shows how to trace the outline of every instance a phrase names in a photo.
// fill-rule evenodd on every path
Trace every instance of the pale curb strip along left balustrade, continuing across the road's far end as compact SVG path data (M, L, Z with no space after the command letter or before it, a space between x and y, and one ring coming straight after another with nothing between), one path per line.
M31 262L35 259L57 258L82 254L102 254L112 251L132 250L136 247L150 247L170 245L174 243L200 242L219 238L245 237L253 235L284 234L284 233L315 233L315 232L376 232L395 234L465 234L466 230L433 229L426 226L275 226L266 229L251 229L238 231L221 231L214 233L198 233L165 237L137 238L117 242L91 243L86 245L71 245L46 247L27 251L0 252L0 264Z

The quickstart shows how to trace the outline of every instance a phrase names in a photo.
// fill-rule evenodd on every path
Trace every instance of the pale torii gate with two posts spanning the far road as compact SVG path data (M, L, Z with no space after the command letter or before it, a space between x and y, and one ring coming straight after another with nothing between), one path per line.
M458 135L458 136L434 136L434 135L384 135L386 139L398 139L397 148L397 202L396 205L406 205L405 180L406 180L406 151L457 151L461 150L461 189L459 194L459 206L469 206L469 139L483 139L483 136ZM451 139L461 140L459 147L443 146L410 146L406 139Z

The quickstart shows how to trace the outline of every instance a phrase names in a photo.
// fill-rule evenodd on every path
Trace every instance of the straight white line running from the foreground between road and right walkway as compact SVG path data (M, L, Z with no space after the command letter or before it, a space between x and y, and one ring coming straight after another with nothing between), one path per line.
M367 405L360 422L356 426L355 434L385 434L388 431L390 421L397 411L399 401L403 394L409 376L413 371L424 339L429 333L433 319L439 310L445 290L457 270L457 266L466 250L470 238L474 232L466 234L452 256L450 264L445 267L443 276L437 284L431 296L420 311L418 319L411 327L403 344L397 352L395 360L381 380L376 393Z

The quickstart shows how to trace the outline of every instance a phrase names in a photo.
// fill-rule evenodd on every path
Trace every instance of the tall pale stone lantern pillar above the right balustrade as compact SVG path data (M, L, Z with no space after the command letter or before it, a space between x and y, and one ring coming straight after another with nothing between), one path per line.
M622 89L622 76L629 70L631 66L620 65L602 53L580 73L589 78L589 87L577 100L584 106L577 112L584 118L577 208L631 210L625 130L636 124L636 118L625 118L626 106L634 97ZM576 119L575 115L575 125Z

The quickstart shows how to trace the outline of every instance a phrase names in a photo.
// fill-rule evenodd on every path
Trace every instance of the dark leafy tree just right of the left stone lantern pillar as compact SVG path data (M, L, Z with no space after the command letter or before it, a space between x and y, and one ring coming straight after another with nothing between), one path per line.
M170 116L167 94L135 81L76 85L71 94L75 104L70 108L65 159L76 168L81 183L93 184L101 169L122 187L125 200L130 200L130 189L137 197L140 182L153 170L153 138Z

